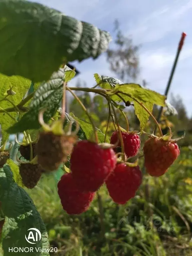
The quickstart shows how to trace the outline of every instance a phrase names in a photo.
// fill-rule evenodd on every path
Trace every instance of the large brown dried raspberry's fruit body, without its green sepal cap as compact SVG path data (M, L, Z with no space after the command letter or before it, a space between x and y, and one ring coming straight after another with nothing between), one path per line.
M75 141L74 137L41 132L37 142L38 163L47 171L57 170L68 160Z

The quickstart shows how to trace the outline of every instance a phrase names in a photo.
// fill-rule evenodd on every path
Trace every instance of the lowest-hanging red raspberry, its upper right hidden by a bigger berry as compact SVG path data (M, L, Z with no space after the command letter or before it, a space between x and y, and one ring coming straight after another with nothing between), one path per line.
M92 192L84 193L78 190L71 173L64 174L57 187L63 209L68 214L81 214L85 212L94 197Z

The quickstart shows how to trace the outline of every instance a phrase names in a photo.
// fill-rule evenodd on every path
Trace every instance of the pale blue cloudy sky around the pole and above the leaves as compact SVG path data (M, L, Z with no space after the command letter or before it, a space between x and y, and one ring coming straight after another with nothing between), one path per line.
M186 32L171 90L180 95L188 115L192 115L192 0L39 0L68 16L94 24L109 31L112 36L114 20L118 19L123 33L131 36L133 43L141 44L140 77L148 88L164 93L182 32ZM95 85L93 74L113 76L105 55L97 60L75 63L81 74L71 81L75 86L80 78L88 86ZM169 94L170 95L170 94ZM169 99L169 97L168 97Z

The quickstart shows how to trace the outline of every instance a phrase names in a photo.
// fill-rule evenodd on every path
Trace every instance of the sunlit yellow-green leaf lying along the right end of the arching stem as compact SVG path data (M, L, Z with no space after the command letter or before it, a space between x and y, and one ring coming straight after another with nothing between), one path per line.
M161 95L155 91L142 88L139 84L122 84L115 87L119 91L121 96L122 93L127 93L131 98L135 98L140 102L150 102L159 106L165 106L166 96Z

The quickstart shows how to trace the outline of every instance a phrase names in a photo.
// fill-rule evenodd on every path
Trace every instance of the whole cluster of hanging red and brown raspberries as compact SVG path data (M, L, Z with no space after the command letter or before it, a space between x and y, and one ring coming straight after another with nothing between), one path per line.
M57 170L70 155L71 172L64 174L58 182L58 195L68 214L86 211L95 192L103 184L106 184L110 197L117 204L125 204L135 196L142 183L142 174L137 164L117 158L122 155L117 154L121 152L117 131L113 132L110 144L97 144L78 140L74 133L65 134L60 125L57 123L53 129L40 132L37 143L32 145L35 158L20 165L20 175L27 188L36 186L43 172ZM141 146L138 133L121 132L121 135L126 159L136 156ZM29 148L20 148L20 152L26 159L29 158ZM143 153L147 173L161 176L180 152L176 141L150 135Z

